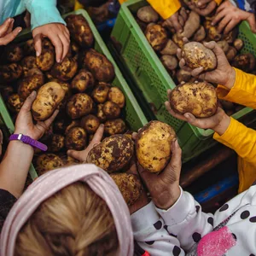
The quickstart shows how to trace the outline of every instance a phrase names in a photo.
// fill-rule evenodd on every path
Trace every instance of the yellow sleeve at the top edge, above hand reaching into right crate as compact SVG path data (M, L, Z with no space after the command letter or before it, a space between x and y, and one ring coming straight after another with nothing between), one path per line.
M148 0L148 3L164 20L170 18L181 8L178 0Z

